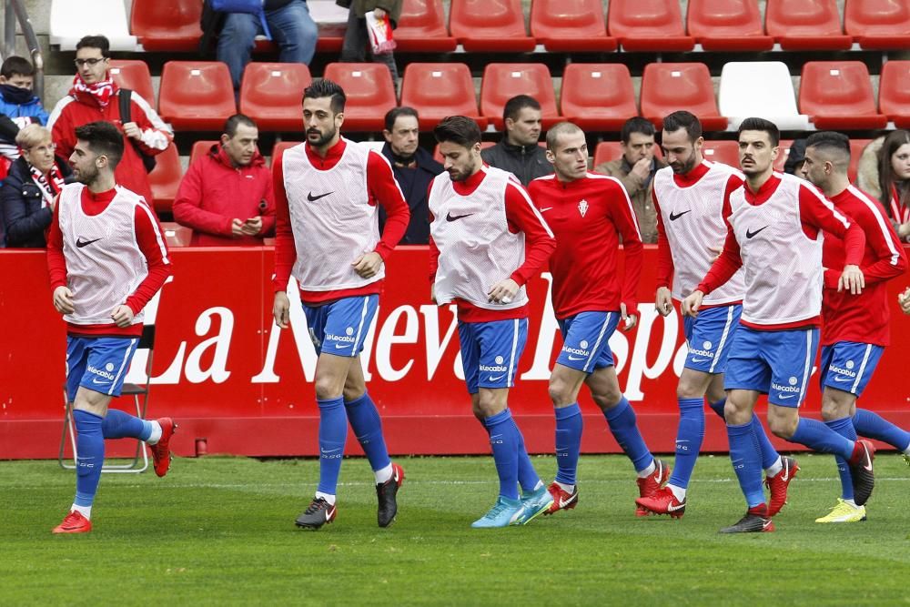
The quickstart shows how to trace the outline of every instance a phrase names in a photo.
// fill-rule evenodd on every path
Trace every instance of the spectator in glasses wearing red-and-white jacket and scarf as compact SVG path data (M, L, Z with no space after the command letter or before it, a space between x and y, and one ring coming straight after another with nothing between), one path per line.
M57 154L68 158L76 147L76 126L97 120L115 124L127 144L116 166L116 182L151 204L147 158L165 151L174 138L173 132L136 91L131 92L129 119L123 120L126 116L120 111L120 87L108 73L109 67L110 43L105 36L86 35L79 40L73 88L57 102L47 128L53 134Z

